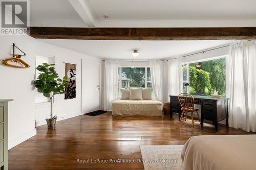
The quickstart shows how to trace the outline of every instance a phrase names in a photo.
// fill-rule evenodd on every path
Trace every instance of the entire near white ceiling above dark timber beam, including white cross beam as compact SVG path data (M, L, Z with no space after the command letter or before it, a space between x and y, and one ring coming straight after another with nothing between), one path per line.
M255 7L255 0L30 0L30 16L37 27L87 27L84 14L95 27L256 27Z

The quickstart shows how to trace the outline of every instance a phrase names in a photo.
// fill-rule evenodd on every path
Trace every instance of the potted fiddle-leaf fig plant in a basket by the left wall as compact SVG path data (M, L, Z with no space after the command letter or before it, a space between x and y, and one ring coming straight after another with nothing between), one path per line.
M42 63L36 69L40 71L37 80L33 83L39 93L43 93L51 102L51 117L46 118L48 129L55 129L57 116L52 117L52 101L55 94L65 93L65 88L68 85L67 77L59 79L54 68L55 64Z

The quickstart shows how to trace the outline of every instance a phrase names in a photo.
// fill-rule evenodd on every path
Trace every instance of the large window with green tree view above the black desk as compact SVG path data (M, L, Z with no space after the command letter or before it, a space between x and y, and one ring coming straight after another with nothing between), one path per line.
M189 86L185 86L189 83ZM225 58L183 65L183 89L192 95L221 94L226 96ZM187 89L189 88L189 89Z

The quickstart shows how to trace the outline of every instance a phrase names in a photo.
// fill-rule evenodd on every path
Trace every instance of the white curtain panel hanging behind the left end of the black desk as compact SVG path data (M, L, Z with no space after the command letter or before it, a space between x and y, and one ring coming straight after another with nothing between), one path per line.
M183 92L182 57L168 60L168 94Z

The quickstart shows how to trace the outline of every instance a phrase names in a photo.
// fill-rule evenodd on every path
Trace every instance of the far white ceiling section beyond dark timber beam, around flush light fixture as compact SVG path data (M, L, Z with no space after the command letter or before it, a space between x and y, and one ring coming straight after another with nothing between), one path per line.
M234 40L116 41L60 39L39 39L39 41L95 57L133 60L164 59L234 42ZM139 51L140 55L138 57L132 56L134 49Z

